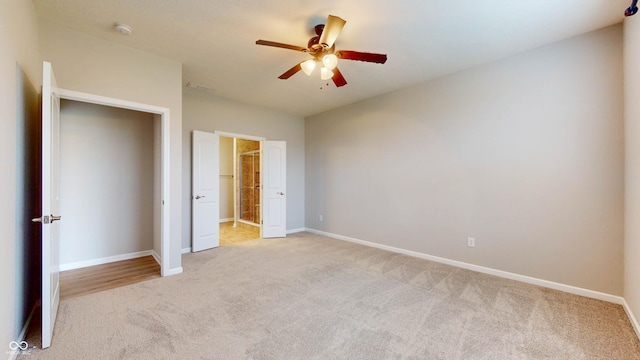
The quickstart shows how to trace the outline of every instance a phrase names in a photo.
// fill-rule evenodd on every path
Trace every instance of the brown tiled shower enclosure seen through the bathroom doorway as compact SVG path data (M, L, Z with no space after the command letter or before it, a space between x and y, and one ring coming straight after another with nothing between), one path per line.
M240 220L260 224L260 151L240 154Z

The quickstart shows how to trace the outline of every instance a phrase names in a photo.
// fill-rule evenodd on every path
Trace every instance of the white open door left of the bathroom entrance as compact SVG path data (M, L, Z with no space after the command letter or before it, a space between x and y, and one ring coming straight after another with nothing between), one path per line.
M220 137L202 131L193 132L191 251L220 245Z

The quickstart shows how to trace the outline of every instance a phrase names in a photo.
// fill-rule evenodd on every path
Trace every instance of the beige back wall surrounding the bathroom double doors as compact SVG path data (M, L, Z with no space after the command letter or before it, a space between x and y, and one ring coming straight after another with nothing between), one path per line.
M287 142L287 230L304 228L304 120L267 108L184 89L182 247L191 247L191 133L224 131Z

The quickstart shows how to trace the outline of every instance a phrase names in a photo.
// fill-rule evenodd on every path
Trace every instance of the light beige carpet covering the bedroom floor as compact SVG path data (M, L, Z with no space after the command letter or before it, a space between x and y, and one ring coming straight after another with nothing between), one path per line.
M640 359L618 305L308 233L183 266L63 301L21 358Z

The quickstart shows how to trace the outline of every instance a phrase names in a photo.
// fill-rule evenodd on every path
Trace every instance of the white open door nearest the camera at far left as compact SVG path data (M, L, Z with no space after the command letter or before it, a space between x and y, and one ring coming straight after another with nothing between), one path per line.
M51 64L42 64L42 348L51 345L60 303L60 97Z

